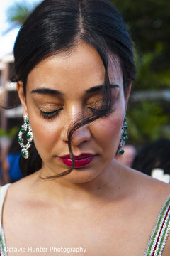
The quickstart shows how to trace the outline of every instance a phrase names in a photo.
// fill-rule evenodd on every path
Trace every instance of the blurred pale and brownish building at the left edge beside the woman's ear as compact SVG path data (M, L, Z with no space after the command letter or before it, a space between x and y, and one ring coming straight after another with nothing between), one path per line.
M20 127L23 110L18 99L16 83L10 82L13 75L13 54L0 59L0 127L9 131L13 127Z

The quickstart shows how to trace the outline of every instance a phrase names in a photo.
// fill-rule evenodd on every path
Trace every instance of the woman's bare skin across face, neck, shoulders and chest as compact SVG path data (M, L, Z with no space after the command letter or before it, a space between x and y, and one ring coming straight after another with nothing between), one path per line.
M85 255L88 256L144 255L170 189L169 185L116 161L130 94L129 89L124 95L116 58L114 61L110 58L109 77L111 83L118 85L112 89L114 111L81 127L72 136L74 154L92 153L96 155L94 160L50 181L41 177L67 169L57 156L69 153L70 124L84 110L90 111L89 107L94 107L96 99L100 99L98 93L87 94L86 90L103 85L103 63L94 48L81 42L69 55L60 53L47 58L30 72L26 98L22 83L18 83L23 112L28 114L35 146L42 157L42 169L8 188L3 211L8 247L81 246L87 248ZM40 88L60 90L62 97L33 91ZM62 110L52 119L40 114L40 110L52 112L58 107ZM165 256L169 255L168 250L169 245ZM43 255L57 253L43 252Z

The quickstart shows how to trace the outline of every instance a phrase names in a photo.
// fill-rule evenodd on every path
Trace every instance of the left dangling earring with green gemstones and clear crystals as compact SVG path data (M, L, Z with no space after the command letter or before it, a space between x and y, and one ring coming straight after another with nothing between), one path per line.
M30 149L31 142L33 141L33 132L32 132L32 128L30 126L28 116L25 115L23 117L23 119L24 119L24 123L21 126L21 130L19 131L19 134L18 134L18 142L21 146L21 155L25 159L28 159L28 157L29 157L28 149ZM25 134L26 132L27 132L27 134L26 134L27 144L23 144L23 134Z

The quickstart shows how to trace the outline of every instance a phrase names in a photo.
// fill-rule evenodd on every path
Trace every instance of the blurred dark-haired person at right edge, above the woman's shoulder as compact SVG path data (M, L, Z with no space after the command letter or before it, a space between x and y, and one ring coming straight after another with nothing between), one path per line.
M135 156L132 168L170 183L170 140L159 139L143 146Z

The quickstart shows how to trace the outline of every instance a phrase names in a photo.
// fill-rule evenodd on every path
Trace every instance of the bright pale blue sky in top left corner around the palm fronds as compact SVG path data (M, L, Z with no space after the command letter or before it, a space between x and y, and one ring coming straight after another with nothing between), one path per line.
M26 0L23 0L26 1ZM41 0L27 0L28 3L40 2ZM13 29L5 33L10 27L6 21L6 10L15 2L22 2L22 0L1 0L0 1L0 58L11 53L13 50L13 43L15 41L18 29Z

